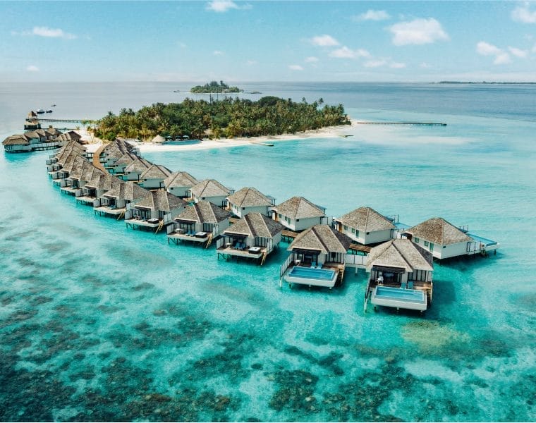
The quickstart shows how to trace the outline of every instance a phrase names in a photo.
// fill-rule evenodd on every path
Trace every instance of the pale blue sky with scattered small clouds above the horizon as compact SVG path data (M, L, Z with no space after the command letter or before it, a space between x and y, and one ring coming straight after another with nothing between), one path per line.
M536 2L0 1L0 80L536 82Z

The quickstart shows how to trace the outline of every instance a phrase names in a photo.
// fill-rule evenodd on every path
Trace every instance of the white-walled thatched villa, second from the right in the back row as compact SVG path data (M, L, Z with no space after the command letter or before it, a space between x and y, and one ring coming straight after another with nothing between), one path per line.
M393 238L393 222L370 207L359 207L333 219L337 231L363 245L384 243Z

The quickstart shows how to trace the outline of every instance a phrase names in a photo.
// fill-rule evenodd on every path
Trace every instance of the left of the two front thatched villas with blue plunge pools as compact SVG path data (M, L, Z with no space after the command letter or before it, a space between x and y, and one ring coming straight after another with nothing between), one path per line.
M281 266L288 286L333 288L343 280L346 257L352 240L328 225L315 225L298 234L288 246L291 255Z

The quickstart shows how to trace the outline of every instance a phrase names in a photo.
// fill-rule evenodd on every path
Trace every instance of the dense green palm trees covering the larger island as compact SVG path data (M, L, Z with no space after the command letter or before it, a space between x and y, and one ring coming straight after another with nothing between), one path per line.
M155 135L231 138L350 125L342 104L323 103L322 99L308 104L305 98L298 103L278 97L262 97L257 102L230 97L212 102L185 99L182 103L152 104L137 112L122 109L118 116L110 111L96 122L95 135L105 140L128 137L144 141Z

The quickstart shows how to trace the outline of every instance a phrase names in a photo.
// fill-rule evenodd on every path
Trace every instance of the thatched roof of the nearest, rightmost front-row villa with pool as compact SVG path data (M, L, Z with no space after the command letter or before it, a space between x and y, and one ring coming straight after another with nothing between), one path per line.
M398 267L406 272L434 270L432 253L407 239L390 240L370 250L367 269L372 266Z

